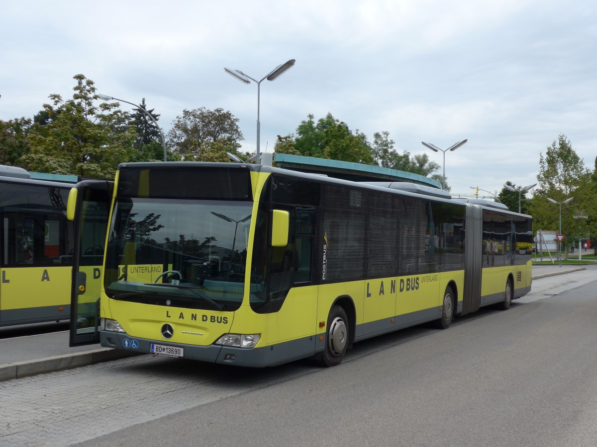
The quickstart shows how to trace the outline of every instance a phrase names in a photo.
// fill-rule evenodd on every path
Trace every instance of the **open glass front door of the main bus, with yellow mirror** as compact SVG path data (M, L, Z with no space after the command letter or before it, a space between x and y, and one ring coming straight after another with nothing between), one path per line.
M70 190L67 218L74 222L69 346L99 343L103 255L113 182L81 181Z

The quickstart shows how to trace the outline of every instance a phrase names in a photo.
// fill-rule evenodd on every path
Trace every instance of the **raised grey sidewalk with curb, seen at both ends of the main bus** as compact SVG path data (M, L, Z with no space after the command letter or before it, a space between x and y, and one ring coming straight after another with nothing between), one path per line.
M563 275L583 266L536 265L533 280ZM69 333L56 332L0 340L0 381L51 373L130 356L130 353L99 344L69 347Z

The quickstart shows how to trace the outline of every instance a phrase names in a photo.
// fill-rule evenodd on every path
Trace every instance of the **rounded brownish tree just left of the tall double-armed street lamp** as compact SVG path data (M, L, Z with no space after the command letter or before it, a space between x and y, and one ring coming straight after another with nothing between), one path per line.
M184 160L203 160L201 157L214 150L215 147L211 145L217 141L218 144L226 141L226 148L236 153L240 147L239 141L243 139L238 118L222 108L184 109L182 116L177 116L172 125L168 142Z

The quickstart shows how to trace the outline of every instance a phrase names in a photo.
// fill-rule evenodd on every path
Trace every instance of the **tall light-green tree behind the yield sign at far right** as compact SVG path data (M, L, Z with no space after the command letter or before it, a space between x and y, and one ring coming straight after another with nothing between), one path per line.
M559 135L546 155L539 157L538 188L531 200L530 211L537 229L559 230L559 206L550 203L551 198L558 203L567 198L573 200L562 205L562 233L567 235L564 243L569 244L579 237L586 237L595 224L597 206L595 184L584 162L574 151L570 140ZM583 216L587 216L585 219ZM577 218L577 219L575 219Z

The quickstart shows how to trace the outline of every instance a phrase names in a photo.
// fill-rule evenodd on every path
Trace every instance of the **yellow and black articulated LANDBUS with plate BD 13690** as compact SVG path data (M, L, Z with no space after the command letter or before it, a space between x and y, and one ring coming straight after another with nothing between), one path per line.
M427 321L447 328L457 313L507 309L531 289L531 256L515 250L532 240L530 216L411 183L130 163L113 188L73 188L76 226L90 206L110 213L101 318L72 328L73 346L331 366L360 340ZM487 257L489 240L502 248ZM85 287L76 264L73 274L76 306Z

